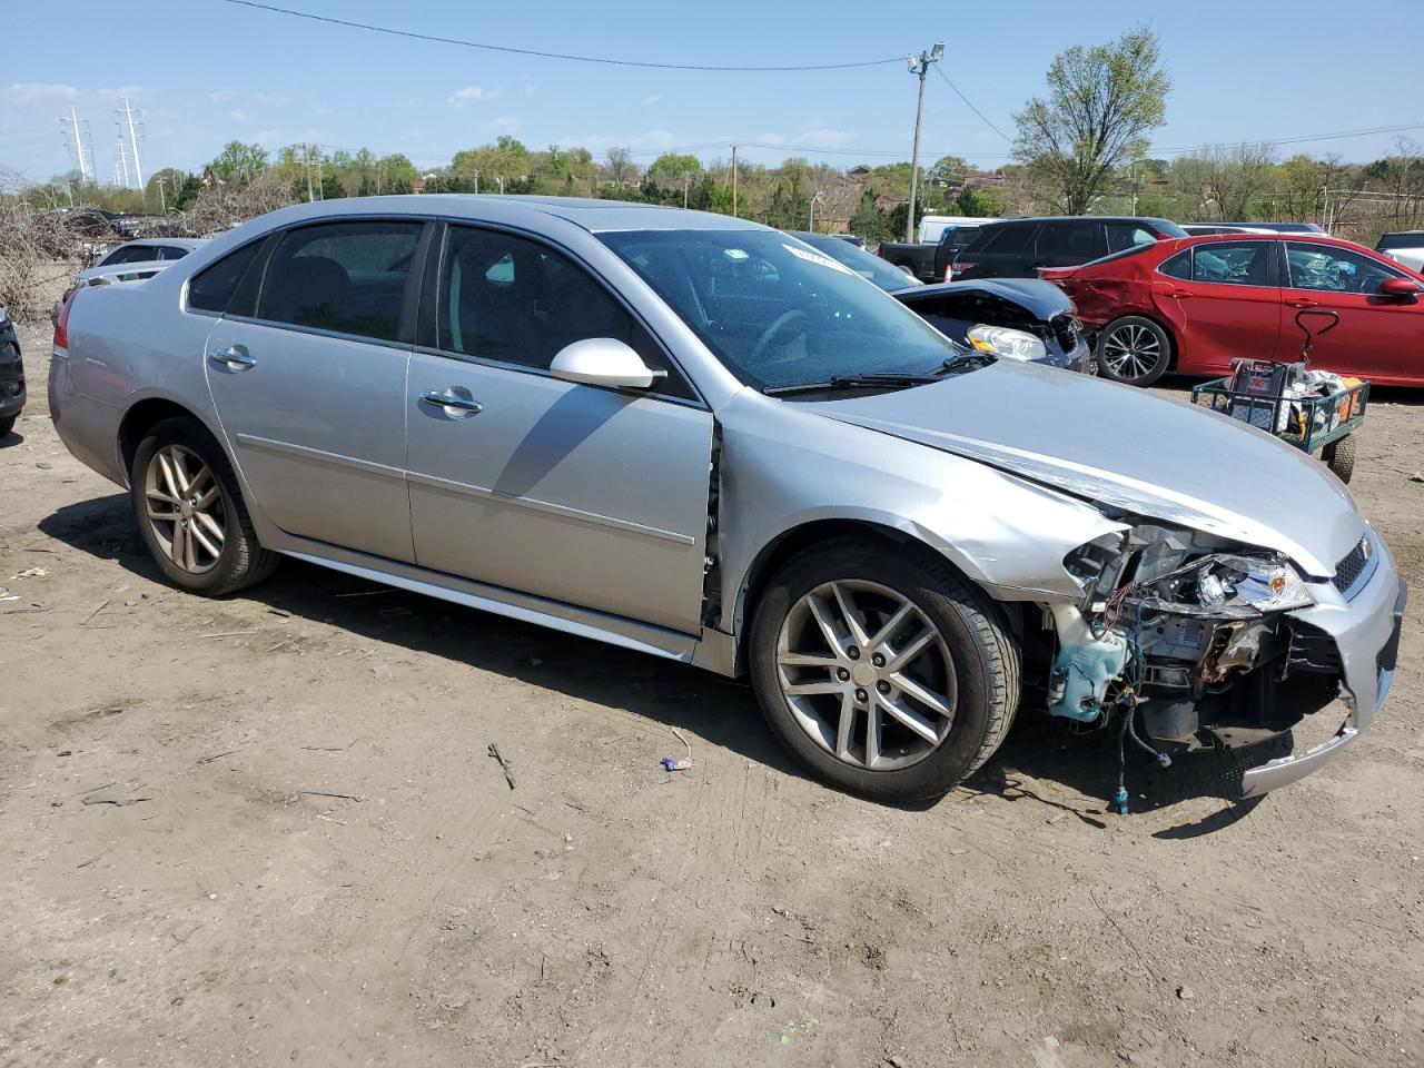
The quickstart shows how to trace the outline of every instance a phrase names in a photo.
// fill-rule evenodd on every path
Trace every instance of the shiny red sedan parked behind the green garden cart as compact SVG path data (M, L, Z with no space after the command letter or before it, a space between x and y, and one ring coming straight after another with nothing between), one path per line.
M1424 386L1424 275L1363 245L1304 234L1158 241L1079 268L1051 268L1098 332L1098 372L1149 386L1173 370L1226 375L1232 359L1293 360L1302 309L1336 312L1312 366ZM1329 316L1306 316L1314 330Z

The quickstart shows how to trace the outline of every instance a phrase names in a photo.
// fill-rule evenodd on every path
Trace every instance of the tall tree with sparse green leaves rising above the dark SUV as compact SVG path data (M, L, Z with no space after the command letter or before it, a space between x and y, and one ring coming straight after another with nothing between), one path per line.
M1048 67L1048 100L1034 97L1014 115L1014 157L1048 181L1065 212L1082 215L1121 162L1145 154L1171 88L1146 27L1112 44L1075 44Z

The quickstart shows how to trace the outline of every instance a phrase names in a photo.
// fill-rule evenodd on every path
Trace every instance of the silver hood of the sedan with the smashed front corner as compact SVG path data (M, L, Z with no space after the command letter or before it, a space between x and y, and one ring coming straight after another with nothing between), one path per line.
M1319 461L1245 423L1131 386L1000 360L816 412L1078 497L1274 548L1316 578L1364 534Z

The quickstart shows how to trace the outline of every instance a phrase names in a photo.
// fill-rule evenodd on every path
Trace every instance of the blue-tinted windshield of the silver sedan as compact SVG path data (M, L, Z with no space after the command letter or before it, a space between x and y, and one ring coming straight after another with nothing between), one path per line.
M943 369L960 350L850 268L776 231L621 231L600 239L742 382Z

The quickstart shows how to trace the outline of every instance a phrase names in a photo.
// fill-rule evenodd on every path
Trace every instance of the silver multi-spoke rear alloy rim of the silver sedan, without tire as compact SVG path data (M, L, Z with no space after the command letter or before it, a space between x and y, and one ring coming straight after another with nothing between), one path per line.
M218 480L201 456L181 444L154 453L144 474L144 500L154 540L177 567L194 575L216 567L226 513Z

